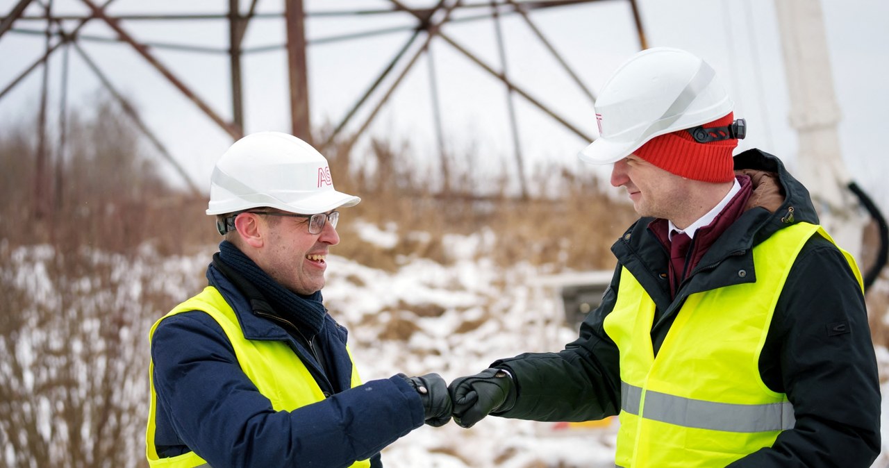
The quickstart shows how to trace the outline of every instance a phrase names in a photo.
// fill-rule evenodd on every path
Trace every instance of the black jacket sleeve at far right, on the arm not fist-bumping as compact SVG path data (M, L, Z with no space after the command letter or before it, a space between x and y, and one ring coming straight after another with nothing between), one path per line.
M730 466L869 467L880 452L880 388L861 289L843 255L816 236L790 271L761 360L796 425Z

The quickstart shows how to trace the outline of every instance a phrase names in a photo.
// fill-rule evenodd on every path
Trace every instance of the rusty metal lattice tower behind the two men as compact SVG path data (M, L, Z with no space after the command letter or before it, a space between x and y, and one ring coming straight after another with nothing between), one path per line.
M10 83L0 83L0 106L4 96L16 87L26 76L43 70L44 80L42 87L42 99L40 108L40 118L38 122L38 155L36 161L36 182L35 194L37 199L47 198L50 190L46 171L47 164L47 145L44 143L45 125L46 125L46 86L47 86L47 68L49 58L57 52L65 51L64 66L68 67L68 49L74 50L92 72L99 78L102 85L108 89L110 94L119 102L124 113L132 118L132 121L142 131L148 140L151 141L157 151L164 159L172 164L172 167L180 173L182 178L188 183L188 186L197 192L196 186L193 185L186 172L182 169L177 160L166 149L162 139L158 138L155 132L151 131L148 126L143 123L140 115L134 110L124 95L117 91L114 84L108 80L107 75L96 65L95 60L84 51L80 46L84 41L96 42L115 42L128 44L132 48L132 52L144 59L151 67L164 76L164 78L179 90L195 107L208 118L212 123L217 125L222 131L225 131L232 139L240 138L244 133L244 104L243 104L243 80L242 80L242 59L245 55L260 52L258 49L246 49L243 47L244 34L251 23L251 20L257 18L278 18L284 20L285 37L284 44L279 47L284 49L287 57L287 68L289 73L289 91L290 91L290 118L292 133L301 139L308 141L313 140L311 131L311 123L309 119L309 100L308 100L308 73L307 73L307 47L312 44L327 44L337 41L361 40L369 36L387 35L396 32L410 31L410 37L400 47L392 59L388 61L388 65L383 68L372 83L368 85L364 94L356 99L356 102L347 114L336 124L331 134L328 135L323 142L316 142L328 145L334 141L345 139L349 146L356 141L367 130L368 126L380 109L384 107L396 90L399 83L402 83L404 76L412 69L418 59L424 55L428 55L429 67L434 71L434 63L431 54L428 54L429 44L436 40L444 44L448 44L454 51L468 59L480 69L484 70L488 75L493 76L501 82L507 91L507 104L510 121L510 131L512 132L513 147L516 152L517 173L521 183L522 194L526 196L523 156L521 155L521 145L518 144L518 131L516 123L515 99L525 99L533 107L536 107L545 115L549 115L557 123L561 124L568 131L581 137L581 139L590 140L591 137L580 129L574 127L563 116L558 115L553 109L545 106L539 99L535 99L533 92L523 89L517 85L508 74L508 63L506 59L505 39L501 32L501 18L507 15L518 15L521 20L533 31L533 35L544 45L553 58L557 59L559 65L564 69L573 81L580 87L583 93L589 98L590 105L594 100L593 93L581 82L581 79L573 72L571 67L559 55L555 47L543 35L541 29L535 25L531 16L532 12L548 10L552 8L570 6L576 4L587 4L600 2L604 0L480 0L477 2L463 2L462 0L429 0L428 6L416 7L408 5L406 0L380 0L380 4L384 5L375 9L350 9L350 10L331 10L331 11L315 11L307 12L304 10L302 0L283 0L283 12L257 12L257 4L259 0L251 0L247 11L241 11L241 0L228 0L228 12L219 14L119 14L112 15L108 13L108 7L115 0L105 0L102 4L97 4L96 0L79 0L86 7L86 13L80 15L72 14L56 14L53 10L52 0L18 0L12 8L5 12L5 16L0 20L0 42L3 41L5 35L39 35L45 37L45 50L42 56L36 57L34 61L25 67L19 75L17 75ZM628 2L631 8L633 20L637 26L637 37L641 49L646 48L645 33L636 0L624 0ZM415 4L413 2L412 4ZM454 12L462 11L459 17L453 15ZM0 12L4 13L4 12ZM26 14L27 13L27 14ZM340 36L329 36L318 39L306 37L306 21L316 18L338 18L338 17L379 17L381 15L407 15L412 19L412 24L397 28L378 28L373 30L363 30L350 32ZM132 21L170 21L170 20L223 20L228 21L228 44L227 47L208 48L190 46L188 44L156 44L140 41L127 24ZM476 54L469 52L461 46L453 37L446 34L443 28L449 23L469 22L477 20L493 20L496 28L497 51L500 63L491 64L480 59ZM81 33L81 29L90 21L100 21L114 31L114 37L108 36L88 36ZM75 26L71 26L74 24ZM35 28L34 25L38 27ZM420 44L419 46L416 44ZM220 115L218 109L214 109L208 102L202 99L194 90L192 90L186 81L180 75L177 75L172 69L164 66L164 63L157 58L154 51L160 49L176 49L187 52L198 53L215 53L225 54L228 56L228 73L231 83L230 88L230 112L231 120L226 120ZM411 52L411 53L408 53ZM391 75L391 76L390 76ZM394 78L392 77L394 76ZM388 89L380 91L384 80L390 80ZM441 124L441 116L439 111L439 103L436 97L436 77L435 73L430 73L430 95L433 100L433 122L436 126L436 137L439 150L444 152L443 131ZM65 83L62 84L65 86ZM371 102L372 95L380 94L381 98L375 103ZM64 97L64 90L62 96ZM64 99L63 106L64 109ZM357 130L344 136L347 125L356 118L359 109L370 109L369 114L364 121L357 124ZM64 111L63 111L64 112ZM64 123L64 116L60 116L60 123ZM64 135L64 129L60 131ZM62 141L64 139L62 138ZM45 210L48 202L37 202L38 210Z

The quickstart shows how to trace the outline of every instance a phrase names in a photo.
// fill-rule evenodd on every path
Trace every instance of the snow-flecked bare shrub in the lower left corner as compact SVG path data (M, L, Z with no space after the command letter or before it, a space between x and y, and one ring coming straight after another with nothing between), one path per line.
M6 461L137 465L147 409L146 305L129 303L125 276L88 250L63 255L43 246L3 255L4 265L20 271L2 278L0 353L15 358L0 373L0 439L12 453Z

